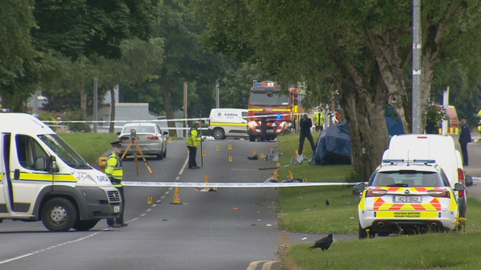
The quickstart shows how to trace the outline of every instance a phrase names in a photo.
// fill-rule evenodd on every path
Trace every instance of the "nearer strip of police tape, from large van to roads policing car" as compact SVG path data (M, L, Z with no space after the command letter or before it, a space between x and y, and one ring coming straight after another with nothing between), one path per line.
M354 182L278 182L278 183L193 183L193 182L129 182L122 181L124 187L179 187L179 188L283 188L315 186L355 186Z

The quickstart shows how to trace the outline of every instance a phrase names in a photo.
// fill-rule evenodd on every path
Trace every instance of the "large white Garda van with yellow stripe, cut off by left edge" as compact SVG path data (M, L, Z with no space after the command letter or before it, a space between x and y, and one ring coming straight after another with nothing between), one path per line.
M41 220L50 231L86 231L118 217L120 195L50 127L0 113L0 222Z

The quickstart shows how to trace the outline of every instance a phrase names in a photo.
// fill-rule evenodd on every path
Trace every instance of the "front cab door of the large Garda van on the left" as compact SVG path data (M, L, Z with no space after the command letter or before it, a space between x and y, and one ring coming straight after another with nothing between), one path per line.
M28 135L16 134L10 144L12 211L31 214L40 190L53 187L53 174L47 170L50 155Z

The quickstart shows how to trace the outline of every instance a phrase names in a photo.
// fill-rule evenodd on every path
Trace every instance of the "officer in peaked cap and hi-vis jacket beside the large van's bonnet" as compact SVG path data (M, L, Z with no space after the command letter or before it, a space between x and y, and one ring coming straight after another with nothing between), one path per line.
M122 159L119 155L122 152L122 141L114 141L110 144L112 145L112 153L107 158L105 174L107 177L109 177L110 182L112 182L112 186L119 190L120 199L122 200L122 211L120 212L120 216L118 218L107 219L107 225L109 227L120 228L128 225L127 223L124 223L125 197L124 188L122 187L124 171L122 169Z

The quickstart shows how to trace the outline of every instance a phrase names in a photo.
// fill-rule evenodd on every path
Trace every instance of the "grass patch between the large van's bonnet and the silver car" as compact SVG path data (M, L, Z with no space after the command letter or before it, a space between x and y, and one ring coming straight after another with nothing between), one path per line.
M90 164L112 149L110 142L117 140L111 133L60 133L59 136Z

